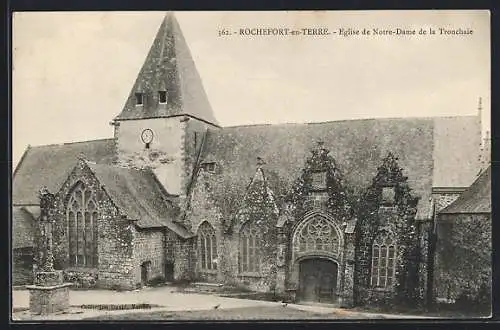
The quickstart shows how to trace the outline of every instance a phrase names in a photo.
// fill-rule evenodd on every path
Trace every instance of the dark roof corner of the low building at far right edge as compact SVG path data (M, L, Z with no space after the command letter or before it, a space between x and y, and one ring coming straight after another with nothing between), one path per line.
M439 214L491 213L491 166Z

